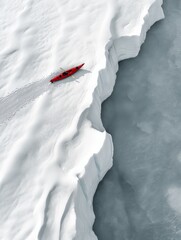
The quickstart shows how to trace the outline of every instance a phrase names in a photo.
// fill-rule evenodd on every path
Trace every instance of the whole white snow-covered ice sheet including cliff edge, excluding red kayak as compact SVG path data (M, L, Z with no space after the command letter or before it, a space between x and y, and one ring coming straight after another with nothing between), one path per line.
M0 2L0 239L96 239L92 199L112 165L101 102L162 0ZM59 68L85 62L49 84ZM51 74L52 73L52 74Z

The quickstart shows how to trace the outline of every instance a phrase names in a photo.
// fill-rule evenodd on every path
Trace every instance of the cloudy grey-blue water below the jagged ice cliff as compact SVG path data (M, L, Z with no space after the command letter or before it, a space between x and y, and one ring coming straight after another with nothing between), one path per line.
M114 163L94 197L99 240L181 239L181 1L163 9L102 106Z

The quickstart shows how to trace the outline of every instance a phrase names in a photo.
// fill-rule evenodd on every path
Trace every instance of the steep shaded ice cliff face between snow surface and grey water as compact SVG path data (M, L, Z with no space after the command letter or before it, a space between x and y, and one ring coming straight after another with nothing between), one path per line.
M93 93L92 104L87 109L87 119L97 132L105 134L105 140L100 151L94 154L87 162L84 172L77 176L78 185L74 199L76 214L74 240L97 239L93 231L91 231L95 219L92 200L98 183L112 166L112 138L105 132L102 126L100 119L101 103L112 93L118 62L123 59L136 57L140 51L141 44L145 41L147 31L155 22L164 18L162 3L162 0L152 1L142 18L142 25L133 35L123 35L120 32L115 37L113 34L106 45L106 66L99 71L98 85ZM93 115L94 118L91 117Z

